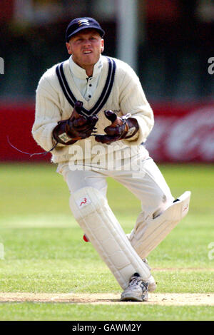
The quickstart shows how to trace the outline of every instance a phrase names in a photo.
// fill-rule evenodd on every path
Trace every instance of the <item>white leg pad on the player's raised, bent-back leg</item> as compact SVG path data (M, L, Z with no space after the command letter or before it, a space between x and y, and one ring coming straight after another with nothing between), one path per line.
M157 247L161 241L178 225L185 215L188 214L190 203L190 191L186 191L178 197L178 201L168 207L165 212L155 219L148 219L146 222L138 222L128 239L143 259Z

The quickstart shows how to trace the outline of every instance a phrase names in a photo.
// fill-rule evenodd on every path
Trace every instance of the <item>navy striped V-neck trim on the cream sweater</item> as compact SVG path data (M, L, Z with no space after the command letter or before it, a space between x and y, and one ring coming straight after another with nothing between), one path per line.
M108 97L110 96L116 71L116 62L112 58L106 58L108 59L108 75L101 96L98 98L96 104L93 106L93 108L91 108L91 110L86 110L86 108L82 108L83 115L96 115L101 110L101 108L103 108L103 105L105 105ZM66 96L66 99L68 100L68 103L70 103L70 105L73 107L77 99L75 98L75 96L73 96L71 88L68 86L68 81L66 80L66 76L63 71L63 63L64 62L56 66L56 75L58 77L61 89Z

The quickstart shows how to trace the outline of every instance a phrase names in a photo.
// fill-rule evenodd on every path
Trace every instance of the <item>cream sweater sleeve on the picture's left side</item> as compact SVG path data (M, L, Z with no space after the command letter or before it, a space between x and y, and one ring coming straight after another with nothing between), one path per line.
M58 93L49 80L42 77L36 90L36 113L32 135L36 143L46 151L51 150L56 143L52 132L61 120Z

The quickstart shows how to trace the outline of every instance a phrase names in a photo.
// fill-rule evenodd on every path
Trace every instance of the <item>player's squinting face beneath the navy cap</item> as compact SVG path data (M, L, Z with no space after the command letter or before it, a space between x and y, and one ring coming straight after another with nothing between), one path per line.
M86 73L91 68L93 73L93 65L98 62L103 46L103 38L95 29L86 29L76 33L66 43L68 53L72 55L73 61L81 68L85 68Z

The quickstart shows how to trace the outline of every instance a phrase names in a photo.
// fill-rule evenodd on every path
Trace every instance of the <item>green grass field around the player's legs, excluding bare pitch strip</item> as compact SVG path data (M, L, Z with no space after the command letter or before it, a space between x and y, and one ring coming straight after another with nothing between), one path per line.
M148 257L157 293L213 293L214 165L159 165L190 212ZM1 164L0 292L120 293L71 215L68 189L50 164ZM140 202L108 180L108 202L125 232ZM214 248L214 247L213 247ZM210 255L210 257L208 257ZM214 306L6 302L0 320L213 320Z

